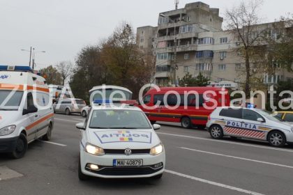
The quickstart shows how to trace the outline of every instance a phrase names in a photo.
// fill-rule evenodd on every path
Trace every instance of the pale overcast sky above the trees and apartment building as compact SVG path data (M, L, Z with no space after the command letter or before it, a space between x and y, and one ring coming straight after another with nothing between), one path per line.
M180 0L179 8L192 0ZM238 0L203 0L211 8L225 10ZM260 16L273 22L292 12L292 0L264 0ZM75 61L86 45L110 36L122 21L156 26L158 13L174 9L174 0L0 0L0 65L28 65L29 50L36 51L37 68L60 61Z

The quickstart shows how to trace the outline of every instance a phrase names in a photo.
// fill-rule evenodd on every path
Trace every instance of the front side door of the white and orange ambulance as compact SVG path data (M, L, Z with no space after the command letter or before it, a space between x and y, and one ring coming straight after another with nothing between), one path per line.
M33 95L31 92L27 93L27 100L24 105L24 110L29 107L35 107L33 104ZM33 141L36 138L36 132L38 130L38 112L24 114L27 130L27 141Z

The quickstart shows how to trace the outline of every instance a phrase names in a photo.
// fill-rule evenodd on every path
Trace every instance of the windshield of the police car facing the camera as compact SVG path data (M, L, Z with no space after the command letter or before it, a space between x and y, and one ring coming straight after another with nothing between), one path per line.
M89 127L93 129L151 129L142 111L95 110Z

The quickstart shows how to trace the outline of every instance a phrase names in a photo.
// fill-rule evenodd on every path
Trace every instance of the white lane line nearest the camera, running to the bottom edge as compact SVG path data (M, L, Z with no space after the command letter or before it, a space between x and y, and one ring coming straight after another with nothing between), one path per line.
M252 191L249 191L249 190L246 190L246 189L241 189L239 187L233 187L231 185L225 185L225 184L222 184L222 183L219 183L219 182L213 182L213 181L210 181L210 180L204 180L202 178L196 178L196 177L193 177L193 176L188 176L186 174L178 173L178 172L175 172L175 171L165 170L165 172L166 173L171 173L173 175L180 176L180 177L183 177L183 178L196 180L198 182L204 182L204 183L207 183L209 185L215 185L215 186L223 187L223 188L226 188L226 189L232 189L232 190L235 190L237 192L242 192L242 193L245 193L245 194L264 195L264 194L260 194L260 193L257 193L257 192L252 192Z

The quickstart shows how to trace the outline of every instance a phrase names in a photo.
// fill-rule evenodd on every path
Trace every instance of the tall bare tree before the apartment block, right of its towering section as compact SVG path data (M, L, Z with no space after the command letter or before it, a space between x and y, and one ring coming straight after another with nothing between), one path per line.
M255 61L260 38L266 34L266 29L260 30L261 18L257 15L262 0L241 1L239 6L231 10L226 10L227 30L232 33L234 39L241 42L241 53L245 61L245 93L250 94L251 76L253 74L251 67L252 61ZM255 50L257 49L257 50Z

